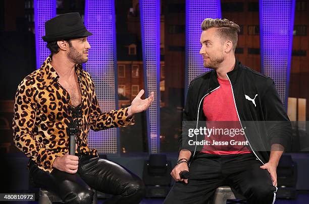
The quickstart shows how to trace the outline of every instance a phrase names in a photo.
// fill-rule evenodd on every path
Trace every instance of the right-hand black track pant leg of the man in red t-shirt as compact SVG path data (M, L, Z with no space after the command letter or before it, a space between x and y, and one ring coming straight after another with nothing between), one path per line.
M230 172L228 182L247 198L248 204L272 204L276 198L277 187L263 164L250 154L241 155L236 162L228 164L225 171Z

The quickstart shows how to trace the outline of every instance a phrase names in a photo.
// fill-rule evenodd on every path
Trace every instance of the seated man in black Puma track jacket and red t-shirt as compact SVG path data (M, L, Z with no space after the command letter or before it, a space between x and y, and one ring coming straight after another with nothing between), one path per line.
M201 28L200 54L204 66L213 70L192 80L183 121L194 121L196 129L205 123L200 121L236 121L244 130L239 141L247 145L192 147L188 141L197 138L188 137L183 128L178 162L171 172L177 182L164 203L205 203L222 185L244 195L247 203L274 203L276 168L283 151L290 149L292 134L274 82L235 58L237 24L205 19ZM189 179L180 178L185 170Z

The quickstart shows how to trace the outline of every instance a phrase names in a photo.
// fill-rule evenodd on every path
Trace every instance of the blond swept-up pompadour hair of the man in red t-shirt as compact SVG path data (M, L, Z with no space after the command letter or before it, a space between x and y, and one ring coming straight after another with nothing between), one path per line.
M236 23L228 19L207 18L203 20L200 27L203 31L209 28L218 28L217 33L219 36L225 40L231 40L233 43L233 50L235 51L238 33L240 32L240 27Z

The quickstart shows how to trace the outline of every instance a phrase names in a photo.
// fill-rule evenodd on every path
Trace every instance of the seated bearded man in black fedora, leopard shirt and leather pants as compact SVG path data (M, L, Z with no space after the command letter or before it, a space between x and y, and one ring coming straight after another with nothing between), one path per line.
M65 203L92 203L92 188L115 195L105 203L139 203L145 194L140 178L99 159L97 151L88 147L87 137L89 129L134 124L132 116L150 106L153 92L142 100L141 90L131 106L101 112L93 81L81 65L88 60L90 35L78 13L45 22L42 38L51 53L18 87L13 141L30 158L33 182ZM75 155L68 154L70 135L75 135Z

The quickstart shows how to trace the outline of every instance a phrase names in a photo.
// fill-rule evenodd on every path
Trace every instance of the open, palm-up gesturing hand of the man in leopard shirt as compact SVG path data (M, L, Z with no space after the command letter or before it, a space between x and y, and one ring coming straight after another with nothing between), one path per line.
M153 101L153 96L155 95L154 92L150 93L150 96L146 99L141 99L140 97L144 94L144 90L140 90L137 96L133 99L131 106L128 109L129 117L134 115L135 113L142 112L149 108Z

